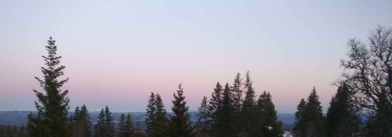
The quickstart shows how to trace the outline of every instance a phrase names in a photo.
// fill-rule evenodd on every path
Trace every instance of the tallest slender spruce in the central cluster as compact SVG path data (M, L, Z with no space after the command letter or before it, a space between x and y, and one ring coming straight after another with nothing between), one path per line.
M252 87L253 81L250 80L250 72L246 72L246 81L244 84L245 88L245 100L243 102L243 107L241 110L241 125L245 129L248 135L251 135L255 131L255 92Z

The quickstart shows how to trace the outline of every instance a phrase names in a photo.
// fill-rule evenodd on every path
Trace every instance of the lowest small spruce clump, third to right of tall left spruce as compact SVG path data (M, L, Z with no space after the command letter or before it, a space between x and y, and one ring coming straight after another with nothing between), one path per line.
M133 129L131 114L127 114L126 118L124 114L121 114L119 126L118 126L118 137L135 137L135 130Z

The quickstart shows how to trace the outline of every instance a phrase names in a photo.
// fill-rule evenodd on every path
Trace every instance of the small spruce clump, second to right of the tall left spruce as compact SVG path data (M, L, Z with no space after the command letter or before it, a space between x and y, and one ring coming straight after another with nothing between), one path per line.
M106 106L105 110L101 110L98 115L98 122L95 125L94 130L95 134L94 137L115 137L116 130L114 129L114 119L111 116L111 112L109 107Z

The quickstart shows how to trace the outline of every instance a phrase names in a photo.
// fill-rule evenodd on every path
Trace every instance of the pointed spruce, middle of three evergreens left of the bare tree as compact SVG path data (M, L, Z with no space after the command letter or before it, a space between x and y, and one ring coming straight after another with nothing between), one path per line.
M302 116L306 125L306 137L324 136L325 123L320 104L321 102L319 101L319 95L317 95L316 87L313 87L305 106L304 115Z

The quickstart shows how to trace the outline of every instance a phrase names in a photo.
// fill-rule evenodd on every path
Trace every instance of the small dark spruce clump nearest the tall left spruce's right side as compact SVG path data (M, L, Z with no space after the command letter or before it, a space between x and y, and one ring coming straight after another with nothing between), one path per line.
M91 137L91 122L90 114L86 105L83 104L81 110L76 107L75 113L72 117L73 137Z

